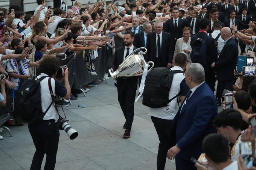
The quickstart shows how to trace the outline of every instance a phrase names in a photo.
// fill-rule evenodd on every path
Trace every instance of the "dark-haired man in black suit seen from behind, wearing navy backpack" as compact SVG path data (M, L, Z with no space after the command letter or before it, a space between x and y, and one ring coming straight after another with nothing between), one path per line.
M192 50L194 50L194 42L198 38L203 39L206 41L206 64L204 65L204 71L205 71L205 82L208 84L210 89L214 92L214 86L215 86L215 72L214 69L211 68L212 61L217 61L217 48L215 46L215 41L212 37L208 36L206 34L206 30L209 28L209 20L206 18L202 18L200 21L200 31L194 35L191 36L191 42L190 45L192 47Z

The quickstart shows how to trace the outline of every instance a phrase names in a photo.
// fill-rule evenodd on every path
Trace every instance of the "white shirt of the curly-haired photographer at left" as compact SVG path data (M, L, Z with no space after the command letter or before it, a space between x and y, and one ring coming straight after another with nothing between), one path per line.
M41 73L40 75L37 76L37 78L40 78L43 76L48 76L48 75ZM46 77L46 78L44 78L44 80L42 80L40 82L41 100L42 100L41 105L42 105L43 112L46 111L46 109L49 107L49 105L52 102L52 97L50 95L50 90L49 90L49 86L48 86L48 79L49 79L49 77ZM53 78L51 79L51 86L52 86L52 92L55 95L55 80ZM43 120L56 119L55 114L56 114L56 110L52 104L51 107L49 108L49 110L47 111L47 113L44 115Z

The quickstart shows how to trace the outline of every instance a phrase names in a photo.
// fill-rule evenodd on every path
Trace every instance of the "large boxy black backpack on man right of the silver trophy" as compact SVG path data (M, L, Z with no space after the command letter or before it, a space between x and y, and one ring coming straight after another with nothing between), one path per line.
M173 75L184 73L180 70L170 70L164 67L152 69L145 80L142 104L151 108L164 107L180 93L169 100L169 91L172 85Z

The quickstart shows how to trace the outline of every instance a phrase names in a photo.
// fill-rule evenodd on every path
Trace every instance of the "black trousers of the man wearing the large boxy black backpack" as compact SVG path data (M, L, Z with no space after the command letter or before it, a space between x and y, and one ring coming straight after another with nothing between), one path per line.
M160 119L154 116L151 116L151 120L160 141L157 152L157 170L165 170L166 154L170 149L172 120Z

